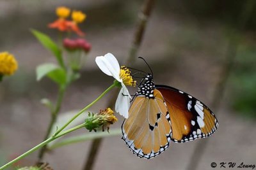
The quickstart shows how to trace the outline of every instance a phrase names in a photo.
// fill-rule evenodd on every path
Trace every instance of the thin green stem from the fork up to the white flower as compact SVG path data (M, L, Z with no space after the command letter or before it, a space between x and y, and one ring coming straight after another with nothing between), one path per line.
M88 104L86 107L84 107L81 111L79 111L74 117L72 117L65 125L63 125L63 127L61 127L61 129L59 129L53 136L56 136L57 134L59 134L61 131L63 131L63 129L65 129L71 122L73 122L73 120L75 120L77 117L79 117L79 115L81 115L82 113L84 113L84 111L88 110L88 108L90 108L93 104L97 103L97 101L99 101L103 96L105 96L105 94L107 94L109 92L109 90L113 89L113 87L115 87L116 85L113 84L110 87L108 87L108 89L106 89L102 94L100 94L99 97L97 97L97 99L95 99L95 101L93 101L92 103Z

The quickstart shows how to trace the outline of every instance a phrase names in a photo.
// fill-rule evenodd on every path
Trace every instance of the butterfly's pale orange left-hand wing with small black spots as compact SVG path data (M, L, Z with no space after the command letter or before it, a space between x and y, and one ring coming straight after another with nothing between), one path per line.
M158 90L154 90L154 97L134 99L122 133L122 139L138 157L150 159L168 148L172 136L170 115Z

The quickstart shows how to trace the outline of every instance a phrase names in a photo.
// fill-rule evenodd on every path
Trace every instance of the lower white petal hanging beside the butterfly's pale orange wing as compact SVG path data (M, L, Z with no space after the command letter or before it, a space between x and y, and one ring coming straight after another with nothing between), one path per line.
M123 117L128 118L130 99L129 99L129 96L124 96L123 95L124 93L125 93L125 89L122 88L118 94L117 99L116 99L115 110L117 113L119 113Z

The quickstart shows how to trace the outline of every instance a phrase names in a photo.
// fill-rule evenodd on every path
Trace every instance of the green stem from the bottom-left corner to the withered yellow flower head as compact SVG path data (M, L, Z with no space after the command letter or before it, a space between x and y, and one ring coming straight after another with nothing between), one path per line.
M86 123L83 123L81 125L77 125L76 127L72 127L70 129L68 129L67 131L63 131L60 134L56 135L56 136L52 136L49 139L46 139L45 141L43 141L42 143L36 145L34 148L31 148L30 150L28 150L27 152L23 153L22 155L20 155L19 157L13 159L12 161L8 162L7 164L5 164L4 166L0 167L0 169L4 169L10 165L12 165L13 163L17 162L18 160L26 157L27 155L29 155L32 152L35 152L36 150L38 150L39 148L47 145L48 143L50 143L51 141L53 141L54 139L60 138L61 136L68 134L72 131L76 131L77 129L80 129L81 127L84 127L84 125L86 125Z

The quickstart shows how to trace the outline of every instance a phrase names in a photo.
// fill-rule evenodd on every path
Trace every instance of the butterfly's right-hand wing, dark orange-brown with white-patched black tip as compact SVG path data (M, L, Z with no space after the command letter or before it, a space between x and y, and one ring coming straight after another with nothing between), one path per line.
M165 85L156 85L170 112L172 140L177 143L211 136L218 121L211 110L195 97Z

